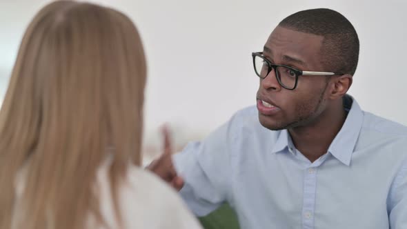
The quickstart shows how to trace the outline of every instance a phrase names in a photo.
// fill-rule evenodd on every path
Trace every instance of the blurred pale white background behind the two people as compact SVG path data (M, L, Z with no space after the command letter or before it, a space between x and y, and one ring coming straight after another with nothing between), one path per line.
M0 0L0 103L23 31L47 0ZM251 52L261 51L284 17L331 8L355 26L361 43L350 90L361 108L407 125L407 1L93 0L125 12L146 49L148 85L143 151L161 153L168 123L175 150L202 139L233 113L255 105Z

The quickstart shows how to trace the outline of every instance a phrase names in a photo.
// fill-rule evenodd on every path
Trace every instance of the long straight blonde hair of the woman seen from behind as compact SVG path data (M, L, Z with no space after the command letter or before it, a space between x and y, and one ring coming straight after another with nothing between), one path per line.
M75 1L40 10L0 112L0 228L86 228L90 214L103 223L95 186L108 155L120 218L118 188L128 166L141 163L145 84L143 46L128 17Z

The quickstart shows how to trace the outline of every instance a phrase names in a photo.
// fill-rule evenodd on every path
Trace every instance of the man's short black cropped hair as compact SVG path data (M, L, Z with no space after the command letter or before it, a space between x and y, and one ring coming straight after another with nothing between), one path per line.
M321 63L326 71L355 74L359 59L359 38L344 15L326 8L291 14L279 26L324 37Z

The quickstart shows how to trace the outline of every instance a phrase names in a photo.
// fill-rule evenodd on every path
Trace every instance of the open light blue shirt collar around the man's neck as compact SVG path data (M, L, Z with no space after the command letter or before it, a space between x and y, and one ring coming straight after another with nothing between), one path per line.
M348 117L346 117L344 125L330 144L328 152L341 163L349 166L363 124L363 112L355 99L348 94L344 97L344 107L346 110L350 107ZM288 130L279 130L277 141L271 152L281 152L286 148L293 147L290 146L289 137Z

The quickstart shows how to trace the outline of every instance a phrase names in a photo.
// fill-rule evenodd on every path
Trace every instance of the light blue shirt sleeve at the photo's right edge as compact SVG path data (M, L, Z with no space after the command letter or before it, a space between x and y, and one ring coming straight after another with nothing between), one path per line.
M407 160L390 188L390 229L407 228Z

